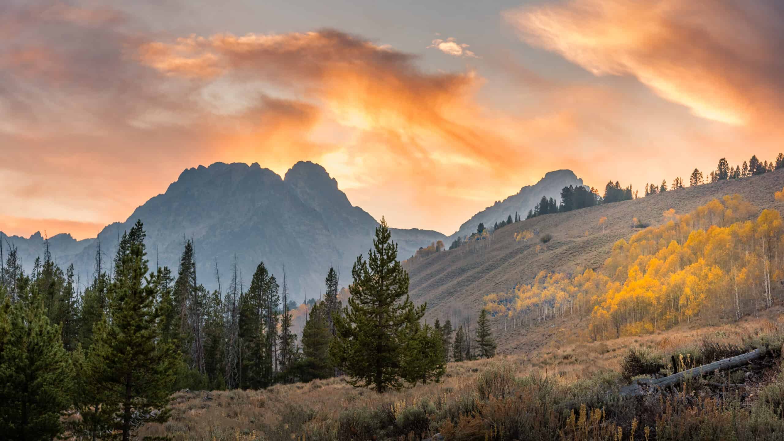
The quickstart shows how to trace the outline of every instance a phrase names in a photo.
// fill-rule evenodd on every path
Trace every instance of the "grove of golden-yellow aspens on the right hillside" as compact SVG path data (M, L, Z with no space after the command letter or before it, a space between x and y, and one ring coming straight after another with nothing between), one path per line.
M784 191L775 199L784 201ZM485 297L485 308L514 327L565 315L590 317L601 339L664 330L695 317L737 320L770 308L784 276L784 227L776 210L756 211L739 195L619 240L594 272L541 272L534 282Z

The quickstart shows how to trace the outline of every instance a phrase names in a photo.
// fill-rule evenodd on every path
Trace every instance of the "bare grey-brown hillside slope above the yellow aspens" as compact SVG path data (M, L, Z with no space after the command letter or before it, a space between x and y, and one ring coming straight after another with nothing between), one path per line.
M426 301L426 317L434 319L475 317L481 299L488 293L508 290L517 283L532 280L540 271L573 272L575 268L598 268L609 256L612 244L629 239L639 229L632 228L633 217L652 225L662 224L662 213L673 208L688 213L710 199L738 193L760 211L764 208L784 210L775 202L774 192L784 187L784 170L741 180L727 180L667 191L659 195L625 202L615 202L567 213L548 214L499 228L486 246L465 245L458 250L437 253L410 268L412 299ZM604 231L598 224L607 217ZM523 230L550 233L553 240L540 245L536 238L516 242L514 234ZM503 341L506 345L522 344Z

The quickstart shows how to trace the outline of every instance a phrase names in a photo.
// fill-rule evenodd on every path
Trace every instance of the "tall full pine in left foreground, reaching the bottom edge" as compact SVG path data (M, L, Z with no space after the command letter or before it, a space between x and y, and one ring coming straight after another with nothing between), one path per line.
M122 235L109 287L109 316L96 324L89 351L89 381L103 390L103 405L116 411L117 430L129 441L140 425L169 419L176 352L161 338L158 293L147 279L141 221Z

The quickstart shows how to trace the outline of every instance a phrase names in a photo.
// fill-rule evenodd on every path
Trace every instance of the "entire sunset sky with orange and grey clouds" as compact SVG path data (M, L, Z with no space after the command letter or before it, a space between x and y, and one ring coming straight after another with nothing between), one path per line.
M0 230L94 237L190 167L318 162L451 234L572 169L784 151L777 0L0 2ZM643 191L641 191L642 193Z

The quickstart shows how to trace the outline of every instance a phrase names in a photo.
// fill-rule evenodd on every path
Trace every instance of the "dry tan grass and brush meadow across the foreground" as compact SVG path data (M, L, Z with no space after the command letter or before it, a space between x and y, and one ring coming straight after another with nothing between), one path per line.
M626 434L622 439L631 439L634 425L633 439L645 439L646 427L649 436L659 436L650 439L723 439L682 435L702 433L710 425L706 433L716 436L753 433L757 439L778 439L784 433L784 382L775 381L778 370L765 377L770 385L750 392L760 400L739 393L719 399L691 385L623 403L608 395L624 383L619 366L630 348L644 348L666 363L670 354L696 353L706 339L781 348L784 323L762 317L614 341L553 343L530 354L449 363L441 383L383 395L352 388L339 378L263 391L178 392L172 419L143 428L140 436L174 441L380 440L442 432L456 440L616 439L620 428ZM559 404L574 400L586 406L573 415ZM592 429L586 421L593 421ZM764 430L746 426L752 424Z

